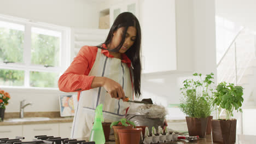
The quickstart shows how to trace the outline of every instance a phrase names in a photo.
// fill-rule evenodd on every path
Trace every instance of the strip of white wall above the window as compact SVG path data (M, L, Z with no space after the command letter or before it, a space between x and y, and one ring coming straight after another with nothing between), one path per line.
M97 4L84 0L1 1L0 14L67 27L98 28Z

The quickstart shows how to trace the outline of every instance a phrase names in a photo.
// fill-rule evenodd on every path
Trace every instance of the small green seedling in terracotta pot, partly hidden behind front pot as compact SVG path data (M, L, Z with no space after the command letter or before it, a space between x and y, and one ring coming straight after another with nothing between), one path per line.
M126 118L120 119L120 121L115 121L110 124L110 128L114 129L114 135L115 135L115 143L119 144L119 134L118 134L118 129L127 129L127 128L133 128L136 127L136 125L131 122L127 121Z

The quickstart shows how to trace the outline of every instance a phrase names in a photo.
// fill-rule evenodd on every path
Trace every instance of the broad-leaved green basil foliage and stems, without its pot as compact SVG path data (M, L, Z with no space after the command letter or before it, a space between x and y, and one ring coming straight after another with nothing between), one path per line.
M220 113L221 109L226 110L226 120L233 116L234 110L242 112L240 107L243 103L243 88L241 86L235 86L234 83L227 85L226 82L221 82L216 90L217 92L214 93L213 106L216 107L216 110L218 109L218 113ZM218 119L220 119L219 115Z

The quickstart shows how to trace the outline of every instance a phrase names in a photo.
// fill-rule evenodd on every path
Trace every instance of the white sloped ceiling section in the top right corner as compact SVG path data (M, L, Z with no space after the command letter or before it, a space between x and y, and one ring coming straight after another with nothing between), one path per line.
M216 15L256 31L255 0L216 0Z

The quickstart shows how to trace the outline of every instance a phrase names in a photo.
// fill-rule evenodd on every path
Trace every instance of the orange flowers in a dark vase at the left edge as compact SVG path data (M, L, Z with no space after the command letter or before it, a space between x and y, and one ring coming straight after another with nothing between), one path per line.
M4 119L5 105L8 105L8 100L10 99L10 94L0 90L0 121Z

